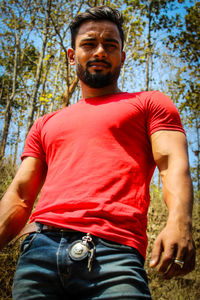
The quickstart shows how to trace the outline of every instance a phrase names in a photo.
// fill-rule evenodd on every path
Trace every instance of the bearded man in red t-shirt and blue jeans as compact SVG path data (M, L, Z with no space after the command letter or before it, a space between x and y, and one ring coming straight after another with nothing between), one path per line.
M69 62L82 99L40 118L1 201L1 248L27 222L13 299L151 299L143 268L149 183L157 165L168 207L151 267L194 268L192 184L178 112L159 92L123 93L123 19L91 8L71 23ZM32 233L30 233L32 231Z

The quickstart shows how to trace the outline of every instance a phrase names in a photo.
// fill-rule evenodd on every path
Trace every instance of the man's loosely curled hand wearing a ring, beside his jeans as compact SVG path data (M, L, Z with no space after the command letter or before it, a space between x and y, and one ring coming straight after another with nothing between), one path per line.
M174 262L183 261L183 267ZM185 224L168 222L154 242L150 267L155 268L164 279L185 275L195 267L195 245L191 229Z

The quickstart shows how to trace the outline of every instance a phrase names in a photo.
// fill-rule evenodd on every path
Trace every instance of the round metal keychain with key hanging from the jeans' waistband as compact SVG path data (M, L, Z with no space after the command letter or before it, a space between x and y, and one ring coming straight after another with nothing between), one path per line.
M95 255L95 244L90 233L82 237L82 240L73 242L69 248L69 256L74 261L81 261L88 257L88 270L91 271Z

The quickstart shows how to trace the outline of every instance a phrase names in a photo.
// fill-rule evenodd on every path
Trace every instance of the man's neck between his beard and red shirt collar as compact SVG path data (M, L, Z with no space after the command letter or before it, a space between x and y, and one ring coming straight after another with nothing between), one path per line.
M117 94L121 92L121 90L117 86L117 83L115 85L112 84L98 89L91 88L88 85L85 85L82 81L80 83L81 83L82 98L93 98L93 97L105 96L110 94Z

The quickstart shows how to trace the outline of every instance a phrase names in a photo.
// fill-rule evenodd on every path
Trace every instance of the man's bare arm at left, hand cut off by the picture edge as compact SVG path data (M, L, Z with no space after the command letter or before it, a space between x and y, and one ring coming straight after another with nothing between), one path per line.
M46 164L27 157L0 201L0 249L26 224L46 176Z

